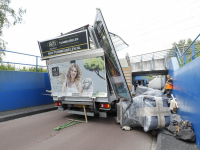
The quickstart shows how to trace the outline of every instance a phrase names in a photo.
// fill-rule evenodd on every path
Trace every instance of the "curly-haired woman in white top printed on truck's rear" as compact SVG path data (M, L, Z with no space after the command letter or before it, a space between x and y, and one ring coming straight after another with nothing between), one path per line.
M81 78L82 72L80 67L75 63L70 64L62 86L62 93L67 93L67 96L82 96L83 86Z

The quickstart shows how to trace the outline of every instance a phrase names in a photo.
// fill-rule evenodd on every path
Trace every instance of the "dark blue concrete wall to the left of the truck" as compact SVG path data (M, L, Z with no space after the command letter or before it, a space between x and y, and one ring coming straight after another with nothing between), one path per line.
M0 71L0 112L53 103L48 73Z

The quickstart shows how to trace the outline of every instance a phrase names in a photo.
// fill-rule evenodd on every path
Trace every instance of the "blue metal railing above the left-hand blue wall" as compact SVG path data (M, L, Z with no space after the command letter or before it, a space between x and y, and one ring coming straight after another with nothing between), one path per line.
M0 61L0 63L11 63L11 64L18 64L18 65L35 66L36 72L38 72L38 67L47 67L47 66L38 65L38 58L41 58L40 56L30 55L30 54L25 54L25 53L19 53L19 52L14 52L14 51L8 51L8 50L3 50L3 49L0 49L0 51L35 57L36 58L36 64L25 64L25 63L16 63L16 62L8 62L8 61Z

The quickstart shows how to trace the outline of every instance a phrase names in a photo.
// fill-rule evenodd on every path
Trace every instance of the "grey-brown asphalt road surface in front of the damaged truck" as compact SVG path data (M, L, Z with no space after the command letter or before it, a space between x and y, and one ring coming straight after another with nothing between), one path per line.
M123 131L113 114L89 117L88 123L60 131L66 118L80 118L67 112L50 111L0 123L0 150L150 150L150 133L142 128Z

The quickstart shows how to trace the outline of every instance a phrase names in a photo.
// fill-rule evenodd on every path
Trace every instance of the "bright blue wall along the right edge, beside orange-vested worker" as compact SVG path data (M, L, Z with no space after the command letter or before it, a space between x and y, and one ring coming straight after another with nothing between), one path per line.
M169 74L174 80L173 94L177 98L178 114L189 120L196 134L196 144L200 148L200 57L179 68L176 58L169 62Z

